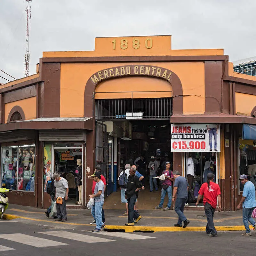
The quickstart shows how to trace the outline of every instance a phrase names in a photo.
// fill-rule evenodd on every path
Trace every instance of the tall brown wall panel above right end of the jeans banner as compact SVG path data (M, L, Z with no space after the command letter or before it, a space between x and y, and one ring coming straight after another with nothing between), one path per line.
M204 62L205 113L220 113L222 111L222 62Z

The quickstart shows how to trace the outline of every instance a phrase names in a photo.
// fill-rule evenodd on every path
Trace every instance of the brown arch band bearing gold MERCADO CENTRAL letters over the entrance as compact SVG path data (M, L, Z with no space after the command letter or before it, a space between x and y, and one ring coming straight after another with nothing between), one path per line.
M147 70L146 70L147 68ZM183 114L183 90L180 78L171 70L150 66L150 65L126 65L106 68L92 74L84 89L84 117L93 114L93 92L101 82L124 76L150 76L158 79L164 79L172 86L172 112L175 115Z

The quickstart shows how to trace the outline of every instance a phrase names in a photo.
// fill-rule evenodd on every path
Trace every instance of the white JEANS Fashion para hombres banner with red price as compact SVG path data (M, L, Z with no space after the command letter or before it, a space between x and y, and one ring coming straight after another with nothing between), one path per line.
M219 124L172 124L172 152L220 152Z

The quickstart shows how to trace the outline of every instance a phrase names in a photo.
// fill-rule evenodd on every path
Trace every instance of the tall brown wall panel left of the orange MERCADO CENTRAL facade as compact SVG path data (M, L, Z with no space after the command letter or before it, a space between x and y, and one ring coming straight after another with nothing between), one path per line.
M43 117L60 117L60 63L44 63Z

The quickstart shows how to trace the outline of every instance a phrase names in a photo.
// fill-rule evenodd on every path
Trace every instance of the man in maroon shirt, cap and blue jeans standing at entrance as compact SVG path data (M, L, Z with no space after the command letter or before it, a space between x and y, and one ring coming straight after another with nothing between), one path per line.
M171 163L170 162L166 162L165 163L166 166L166 170L164 170L162 172L162 174L164 174L165 180L163 181L163 186L162 186L162 190L161 190L161 201L160 204L158 206L155 207L155 209L163 209L163 204L164 204L164 197L167 193L168 195L168 204L167 207L165 207L163 210L167 211L167 210L171 210L171 204L172 204L172 181L173 179L173 175L172 175L172 170L171 170Z

